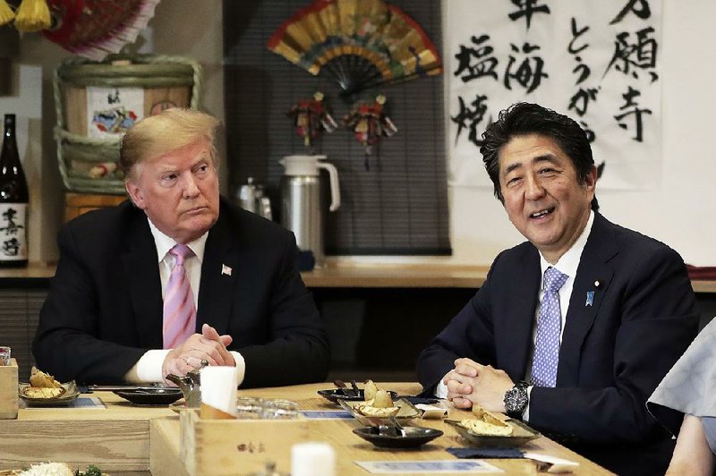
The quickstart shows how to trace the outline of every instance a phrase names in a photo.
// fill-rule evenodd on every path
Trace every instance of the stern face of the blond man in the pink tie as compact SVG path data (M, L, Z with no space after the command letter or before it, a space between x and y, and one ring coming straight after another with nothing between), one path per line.
M218 218L218 176L208 140L147 159L126 183L134 204L159 231L192 242Z

